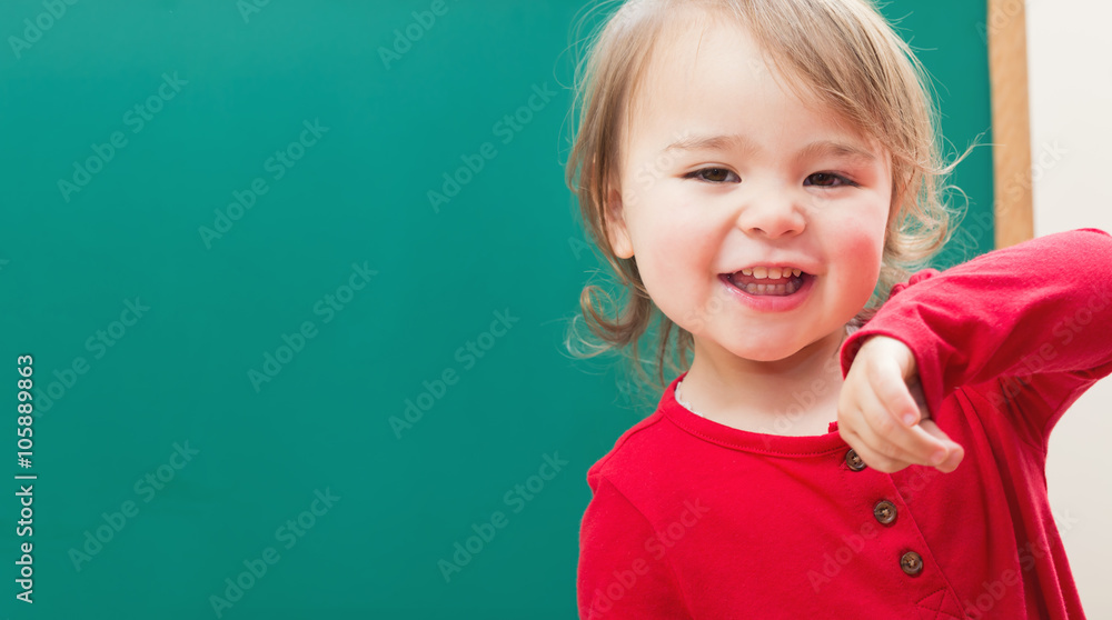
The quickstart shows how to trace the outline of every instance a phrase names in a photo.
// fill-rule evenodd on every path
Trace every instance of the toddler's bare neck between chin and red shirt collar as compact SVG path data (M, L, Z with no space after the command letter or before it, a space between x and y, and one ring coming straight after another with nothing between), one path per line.
M766 434L825 434L842 388L838 330L775 361L738 358L695 340L683 400L709 420Z

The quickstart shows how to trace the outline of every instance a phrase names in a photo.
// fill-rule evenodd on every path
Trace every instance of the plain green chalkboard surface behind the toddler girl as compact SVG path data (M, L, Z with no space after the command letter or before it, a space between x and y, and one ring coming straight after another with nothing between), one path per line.
M560 350L585 7L0 3L0 616L575 617L586 470L651 412ZM884 12L964 150L984 7Z

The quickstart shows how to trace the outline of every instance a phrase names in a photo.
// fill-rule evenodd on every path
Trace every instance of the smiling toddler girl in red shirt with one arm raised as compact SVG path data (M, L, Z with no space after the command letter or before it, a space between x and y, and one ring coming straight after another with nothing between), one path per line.
M588 471L582 618L1083 618L1044 463L1112 372L1112 239L924 269L956 161L923 74L866 0L604 24L568 180L631 296L582 304L595 353L659 317L664 392Z

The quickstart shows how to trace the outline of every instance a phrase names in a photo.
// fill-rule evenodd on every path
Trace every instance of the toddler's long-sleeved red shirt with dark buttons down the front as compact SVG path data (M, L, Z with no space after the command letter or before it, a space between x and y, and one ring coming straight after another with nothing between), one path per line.
M837 422L784 437L707 420L676 402L681 374L587 472L580 618L1084 618L1046 444L1112 373L1109 326L1112 238L1096 229L896 286L843 343L842 374L868 336L906 343L965 448L952 473L855 469Z

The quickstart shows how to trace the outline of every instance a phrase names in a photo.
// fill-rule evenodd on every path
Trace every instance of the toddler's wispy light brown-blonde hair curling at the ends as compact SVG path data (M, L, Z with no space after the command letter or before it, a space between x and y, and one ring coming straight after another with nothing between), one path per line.
M599 6L599 9L606 8ZM639 340L659 321L656 384L669 371L689 368L691 332L653 303L637 271L636 257L619 259L609 243L607 196L616 184L623 139L623 110L637 101L638 88L661 42L675 40L676 9L699 8L733 19L755 38L770 64L801 99L832 110L842 121L877 140L892 154L892 206L877 287L852 323L867 321L896 282L927 261L949 241L951 212L943 203L943 179L969 150L944 166L937 112L925 69L909 46L867 0L629 0L593 37L585 62L576 68L575 101L579 121L566 174L576 193L584 230L613 268L628 299L616 309L603 287L587 284L579 296L565 346L577 358L593 358L632 347L634 380L647 383ZM706 14L701 13L701 14ZM780 76L777 76L777 79ZM970 147L972 149L972 147ZM577 329L583 320L595 340ZM675 347L672 328L675 327ZM578 347L584 347L579 350ZM679 363L669 353L677 353ZM643 390L637 390L642 392ZM652 400L646 400L652 403Z

